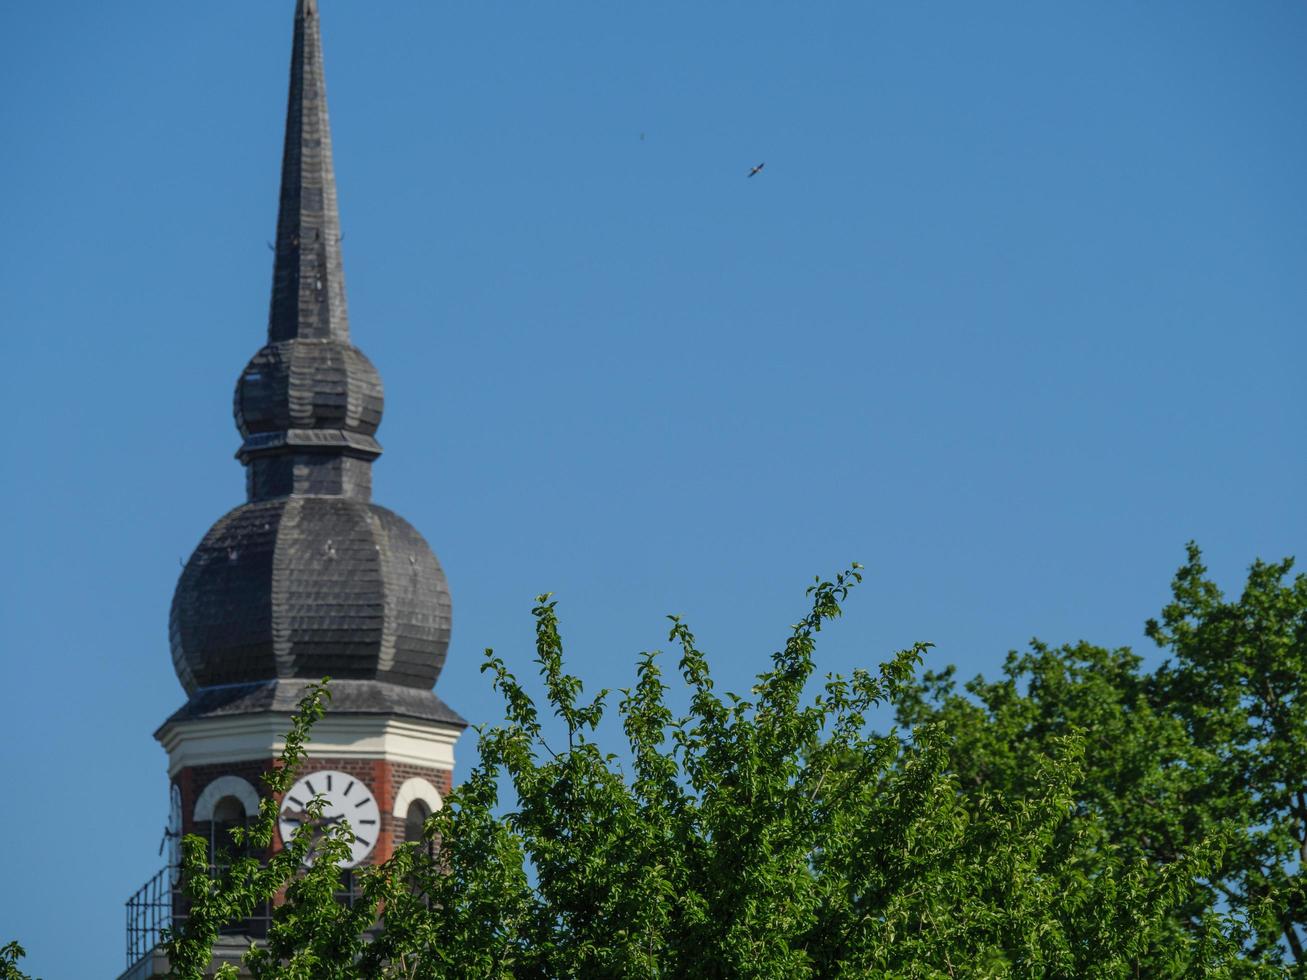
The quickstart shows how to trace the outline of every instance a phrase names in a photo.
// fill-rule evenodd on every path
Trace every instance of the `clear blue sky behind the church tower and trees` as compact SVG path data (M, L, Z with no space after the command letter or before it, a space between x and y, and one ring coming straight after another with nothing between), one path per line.
M291 0L0 9L0 943L123 966L182 700L167 608L243 499ZM562 600L620 686L1146 649L1184 542L1307 553L1307 5L322 0L375 498L498 717ZM749 167L766 170L746 179ZM463 758L472 746L463 743Z

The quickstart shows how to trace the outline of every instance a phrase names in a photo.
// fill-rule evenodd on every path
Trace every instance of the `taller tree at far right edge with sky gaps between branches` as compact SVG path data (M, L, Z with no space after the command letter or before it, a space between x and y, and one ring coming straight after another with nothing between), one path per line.
M1256 562L1227 601L1189 545L1174 600L1148 634L1171 653L1154 700L1193 745L1183 831L1238 828L1212 889L1253 928L1260 960L1307 971L1307 576Z

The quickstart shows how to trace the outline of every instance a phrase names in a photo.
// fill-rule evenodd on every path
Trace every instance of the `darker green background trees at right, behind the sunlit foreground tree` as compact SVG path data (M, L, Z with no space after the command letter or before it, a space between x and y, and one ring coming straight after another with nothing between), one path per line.
M1159 868L1219 840L1219 858L1184 883L1159 949L1222 930L1240 949L1235 975L1282 976L1290 964L1300 975L1307 579L1290 580L1291 567L1255 563L1231 601L1189 545L1174 600L1146 627L1167 653L1155 670L1129 649L1034 642L996 681L958 690L951 669L925 674L898 720L949 732L950 768L974 800L1029 797L1038 759L1081 740L1060 860L1091 874L1116 860ZM1073 840L1077 825L1093 832Z

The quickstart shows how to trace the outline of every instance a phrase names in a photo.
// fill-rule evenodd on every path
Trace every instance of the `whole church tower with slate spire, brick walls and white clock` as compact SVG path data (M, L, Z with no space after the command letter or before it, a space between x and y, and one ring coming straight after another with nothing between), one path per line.
M324 676L328 713L278 801L284 835L323 793L324 817L348 810L352 864L379 862L450 789L465 723L433 690L450 592L422 536L371 500L382 406L382 379L350 341L318 3L298 0L268 342L235 388L247 499L204 536L173 597L187 702L156 738L174 840L230 845L290 712Z

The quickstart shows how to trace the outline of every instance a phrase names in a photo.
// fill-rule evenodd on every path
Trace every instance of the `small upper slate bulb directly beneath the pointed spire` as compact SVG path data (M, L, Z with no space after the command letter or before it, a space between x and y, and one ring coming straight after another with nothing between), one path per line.
M294 338L251 358L234 410L246 438L290 429L375 435L383 406L382 376L363 351L335 338Z

